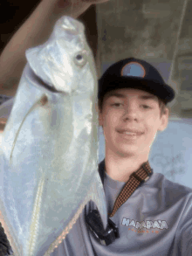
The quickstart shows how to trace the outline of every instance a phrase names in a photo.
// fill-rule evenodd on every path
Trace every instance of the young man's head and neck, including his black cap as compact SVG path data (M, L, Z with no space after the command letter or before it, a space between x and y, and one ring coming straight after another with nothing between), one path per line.
M164 102L172 100L174 92L161 86L164 81L158 75L141 60L125 59L100 80L99 125L106 139L106 173L120 182L127 182L147 161L156 133L168 125Z

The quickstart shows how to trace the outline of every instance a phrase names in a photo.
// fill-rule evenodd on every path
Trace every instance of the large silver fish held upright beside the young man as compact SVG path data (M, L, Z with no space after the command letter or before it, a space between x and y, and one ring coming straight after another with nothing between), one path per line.
M14 255L42 256L65 239L90 200L106 228L97 74L85 27L72 17L61 17L26 58L0 148L0 222Z

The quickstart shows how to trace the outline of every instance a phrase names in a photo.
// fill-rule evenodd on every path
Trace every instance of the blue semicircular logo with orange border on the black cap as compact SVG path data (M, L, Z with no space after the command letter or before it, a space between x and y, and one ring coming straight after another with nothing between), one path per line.
M130 62L123 66L121 69L121 76L134 76L139 78L144 78L146 71L144 67L138 62Z

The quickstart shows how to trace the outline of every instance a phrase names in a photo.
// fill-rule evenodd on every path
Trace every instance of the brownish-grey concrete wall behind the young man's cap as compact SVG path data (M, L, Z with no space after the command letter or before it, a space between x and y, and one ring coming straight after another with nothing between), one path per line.
M120 59L147 60L175 89L176 98L168 104L172 116L192 117L191 10L189 0L110 0L98 4L101 73Z

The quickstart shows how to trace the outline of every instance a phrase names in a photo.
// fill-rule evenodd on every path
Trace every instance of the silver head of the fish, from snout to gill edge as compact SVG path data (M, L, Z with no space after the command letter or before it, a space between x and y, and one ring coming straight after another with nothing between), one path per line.
M27 50L26 58L33 72L57 91L93 92L97 86L93 52L86 42L85 26L72 17L59 18L49 40Z

